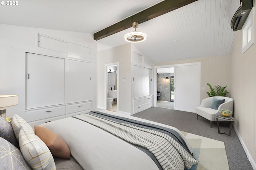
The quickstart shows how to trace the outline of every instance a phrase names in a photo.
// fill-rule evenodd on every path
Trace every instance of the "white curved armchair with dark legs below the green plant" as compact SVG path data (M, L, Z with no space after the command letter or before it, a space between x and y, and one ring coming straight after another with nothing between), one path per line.
M205 98L202 100L201 105L196 107L196 119L198 116L204 117L210 121L210 127L212 127L212 121L215 121L214 115L220 114L220 109L229 109L233 112L234 100L232 98L223 97L223 96L215 96L217 99L225 99L225 102L220 104L218 109L210 108L212 104L212 99L214 97Z

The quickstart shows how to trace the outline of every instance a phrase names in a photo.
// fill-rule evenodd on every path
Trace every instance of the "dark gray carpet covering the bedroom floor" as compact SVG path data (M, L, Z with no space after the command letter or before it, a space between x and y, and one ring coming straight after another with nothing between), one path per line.
M225 143L230 170L253 170L234 128L232 128L231 136L218 134L216 122L212 123L211 128L210 122L203 117L199 117L197 120L196 113L161 107L151 107L133 116L170 125L180 131L222 141ZM228 132L228 130L228 123L225 123L225 126L224 123L220 123L220 131ZM218 164L218 162L216 162L216 164Z

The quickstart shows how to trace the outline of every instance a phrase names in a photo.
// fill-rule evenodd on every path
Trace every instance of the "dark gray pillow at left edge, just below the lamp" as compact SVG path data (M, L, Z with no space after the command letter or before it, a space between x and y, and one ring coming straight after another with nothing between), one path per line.
M12 124L4 120L3 117L0 117L0 137L9 141L15 147L20 148L19 143L12 130Z

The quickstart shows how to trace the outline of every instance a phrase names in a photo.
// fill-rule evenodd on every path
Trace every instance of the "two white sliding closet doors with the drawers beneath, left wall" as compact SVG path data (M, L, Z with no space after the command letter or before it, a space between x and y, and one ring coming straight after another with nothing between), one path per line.
M92 110L92 64L26 53L25 120L40 125Z

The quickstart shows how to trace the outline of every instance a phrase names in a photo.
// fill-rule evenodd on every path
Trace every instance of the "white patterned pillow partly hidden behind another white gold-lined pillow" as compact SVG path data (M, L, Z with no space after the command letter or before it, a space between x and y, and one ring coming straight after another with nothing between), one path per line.
M14 131L14 135L17 139L17 141L19 141L19 133L20 133L20 128L23 127L23 129L32 131L34 133L33 128L24 120L22 119L19 115L14 114L14 116L12 117L12 129Z

